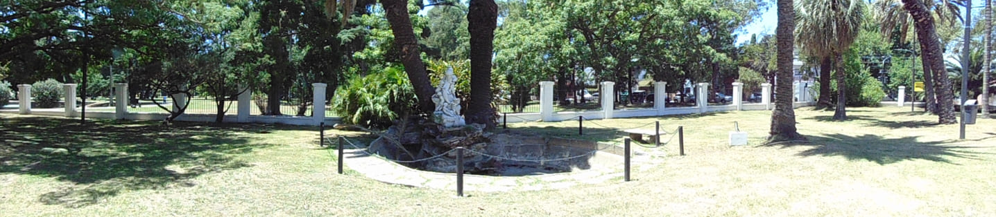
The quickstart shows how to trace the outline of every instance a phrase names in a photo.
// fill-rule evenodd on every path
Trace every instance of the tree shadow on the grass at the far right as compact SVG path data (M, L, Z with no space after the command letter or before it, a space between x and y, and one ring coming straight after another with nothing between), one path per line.
M877 135L851 136L830 134L807 136L811 143L788 143L781 146L809 147L798 156L841 156L850 161L865 160L878 164L898 163L911 160L926 160L939 163L952 163L952 158L979 160L978 155L989 153L971 151L980 147L950 146L949 141L919 142L918 137L882 138Z

